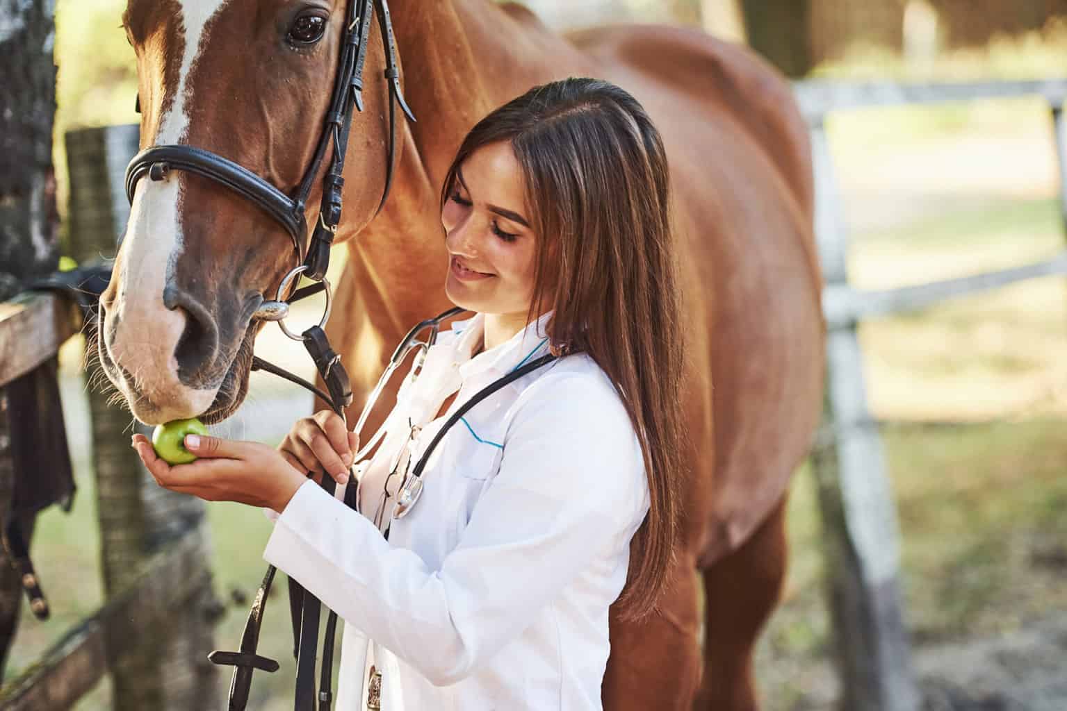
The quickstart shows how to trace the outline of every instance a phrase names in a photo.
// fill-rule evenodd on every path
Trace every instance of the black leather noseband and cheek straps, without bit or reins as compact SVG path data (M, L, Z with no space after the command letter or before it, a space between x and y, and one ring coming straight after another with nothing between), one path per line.
M188 145L165 145L146 148L130 161L126 168L126 196L130 203L133 201L133 193L138 182L145 176L159 181L164 180L171 171L185 171L214 180L255 204L285 227L286 232L292 239L292 246L297 252L298 259L305 266L304 276L316 281L321 280L330 265L330 247L333 245L337 226L340 224L343 188L345 185L345 152L352 128L352 116L355 111L363 111L363 66L367 58L371 16L378 17L378 23L382 30L382 41L385 45L385 79L389 86L389 148L385 189L378 206L380 212L388 198L389 187L393 184L397 140L397 104L400 106L410 120L415 120L400 88L396 36L393 32L393 20L389 16L387 0L351 0L349 2L341 36L340 61L337 77L334 80L333 98L327 113L325 126L319 136L312 164L300 181L296 193L291 196L286 195L282 190L252 171L210 150ZM310 196L312 187L331 146L333 147L333 156L330 168L322 180L322 203L319 207L319 219L305 249L307 198Z

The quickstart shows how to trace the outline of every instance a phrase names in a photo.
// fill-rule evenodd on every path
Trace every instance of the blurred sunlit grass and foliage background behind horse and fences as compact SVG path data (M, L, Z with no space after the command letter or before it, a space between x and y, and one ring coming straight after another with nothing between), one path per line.
M1061 1L525 4L560 30L625 20L703 27L734 42L751 38L797 78L1067 76L1067 3ZM58 2L61 211L66 209L63 132L137 120L133 58L118 27L124 5L122 0ZM1063 249L1053 129L1041 99L842 112L830 116L827 130L851 238L853 285L921 284ZM984 692L954 669L983 645L1006 645L1023 672L1005 683L1024 684L1026 669L1050 668L1050 649L1067 658L1067 286L1063 279L1038 279L872 320L860 338L873 414L887 421L882 432L920 674L978 702ZM48 624L29 615L21 620L9 676L101 602L82 348L71 342L62 354L64 407L81 491L71 515L51 510L39 519L35 539L38 569L65 582L49 591L55 614ZM309 374L299 345L273 329L258 349ZM258 375L253 387L227 432L273 443L294 414L310 407L302 393ZM790 514L793 565L784 604L761 644L759 674L768 709L830 708L837 691L807 471L796 479ZM261 575L268 522L258 512L225 504L210 505L210 517L217 594L227 601L251 596ZM262 653L288 659L284 595L274 596L272 604ZM243 603L229 604L217 631L220 646L236 644L245 612ZM1051 634L1060 634L1060 642ZM1067 664L1053 662L1050 673L1057 668L1063 676ZM257 676L252 708L288 708L291 676ZM1060 689L1063 696L1039 708L1067 709L1067 690ZM107 708L108 698L103 682L77 708Z

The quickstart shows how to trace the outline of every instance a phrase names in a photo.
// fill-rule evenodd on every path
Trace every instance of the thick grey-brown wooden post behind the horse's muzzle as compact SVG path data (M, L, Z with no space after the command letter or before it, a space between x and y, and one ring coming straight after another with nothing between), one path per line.
M137 152L138 127L85 129L66 134L70 166L70 243L78 260L113 257L129 216L124 187L127 161ZM89 392L101 559L108 599L121 595L142 564L175 538L192 536L209 559L204 503L161 489L129 447L132 418L110 407L108 397ZM140 423L134 430L150 431ZM140 655L112 672L112 708L206 709L219 704L219 675L207 661L213 647L210 611L217 609L210 577L184 605L170 629L144 630ZM162 632L162 633L161 633Z

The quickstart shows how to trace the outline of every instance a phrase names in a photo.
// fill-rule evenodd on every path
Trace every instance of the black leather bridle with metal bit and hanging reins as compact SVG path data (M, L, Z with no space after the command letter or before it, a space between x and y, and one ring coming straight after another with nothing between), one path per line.
M312 383L258 357L253 358L252 368L253 370L265 370L285 377L315 392L319 398L330 403L334 411L340 415L341 418L345 417L345 408L352 403L352 389L348 373L340 363L340 356L330 348L325 332L323 330L330 318L331 302L330 284L325 275L330 265L330 248L337 233L337 227L340 225L343 189L345 185L345 153L348 148L352 118L356 111L363 111L364 108L363 68L367 58L372 15L377 16L379 27L382 31L382 39L385 46L384 77L388 82L389 91L388 162L386 164L385 187L382 191L381 203L378 206L378 212L381 212L382 207L384 207L388 198L395 171L397 106L399 104L410 120L415 120L400 87L396 35L393 32L393 21L387 0L350 0L348 4L345 28L341 35L340 60L337 76L334 80L325 125L319 136L312 163L292 195L285 194L259 175L227 158L189 145L152 146L138 153L126 168L126 195L130 203L133 201L138 183L145 176L150 180L161 181L166 179L171 171L185 171L213 180L234 191L244 199L253 203L285 228L292 240L292 246L297 253L300 265L290 271L282 279L274 300L265 301L253 316L253 319L276 321L289 338L302 341L315 361L316 369L325 382L329 392L323 392ZM140 109L140 99L138 99L138 108ZM327 152L331 148L330 165L322 178L322 201L319 206L318 220L315 224L310 241L305 248L304 240L307 236L307 221L305 216L307 199L325 161ZM285 301L287 290L300 274L303 274L306 278L317 284L298 289L288 301ZM285 318L288 316L289 304L322 290L327 292L327 309L322 321L300 336L292 334L285 326ZM441 320L453 314L452 311L449 311L448 314L442 314L437 320L431 320L434 321L433 335L436 334ZM397 361L401 351L402 355L407 356L411 348L414 348L411 343L414 341L417 332L409 334L409 338L402 344L403 349L398 349L397 353L394 354L395 361ZM430 343L432 343L432 336ZM429 346L429 344L424 345ZM402 357L400 357L400 360L402 360ZM383 379L387 375L391 375L399 365L399 361L391 363L391 369L383 375ZM371 399L368 400L364 408L363 416L360 418L360 426L366 421L367 415L373 406L375 400L381 393L382 387L383 384L380 382L379 387L375 389ZM334 494L336 485L330 476L323 476L322 486L331 495ZM354 481L350 478L345 491L345 502L353 508L356 504L355 490ZM249 613L249 619L241 637L240 650L236 652L214 651L209 656L210 661L216 664L235 667L229 686L228 708L230 711L239 711L248 705L254 669L275 672L278 668L276 661L256 653L262 613L274 573L274 566L269 566L267 575L259 586L256 599L253 602L252 610ZM337 614L331 611L327 620L325 635L322 644L320 683L318 690L316 690L315 665L321 602L290 578L289 605L293 625L293 655L297 658L294 708L297 711L315 711L317 705L319 711L329 711L333 702L331 682Z

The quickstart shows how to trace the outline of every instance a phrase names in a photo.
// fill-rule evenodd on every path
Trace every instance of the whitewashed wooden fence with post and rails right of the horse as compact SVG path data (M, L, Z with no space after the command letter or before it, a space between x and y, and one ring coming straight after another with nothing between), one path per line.
M815 230L826 287L824 427L812 460L823 517L837 658L844 709L917 711L922 704L911 663L899 589L899 532L877 423L871 416L857 325L953 296L1038 276L1067 274L1067 249L1040 262L986 274L881 291L848 284L848 235L830 157L827 114L875 107L1042 96L1053 120L1060 197L1067 227L1067 80L956 84L802 81L795 95L811 131ZM917 168L920 166L917 166Z

